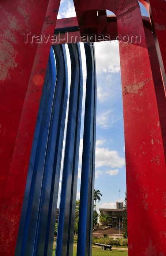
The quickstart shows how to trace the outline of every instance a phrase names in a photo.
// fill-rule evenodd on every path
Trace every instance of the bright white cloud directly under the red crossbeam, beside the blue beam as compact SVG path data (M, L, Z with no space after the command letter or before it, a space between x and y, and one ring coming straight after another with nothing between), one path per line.
M120 71L119 46L117 42L95 43L97 75Z

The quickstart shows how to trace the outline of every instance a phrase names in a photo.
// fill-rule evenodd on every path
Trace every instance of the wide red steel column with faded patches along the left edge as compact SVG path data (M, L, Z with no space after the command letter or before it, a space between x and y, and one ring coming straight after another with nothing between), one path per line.
M14 255L27 171L50 41L31 34L54 32L60 0L0 4L0 255Z

